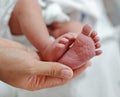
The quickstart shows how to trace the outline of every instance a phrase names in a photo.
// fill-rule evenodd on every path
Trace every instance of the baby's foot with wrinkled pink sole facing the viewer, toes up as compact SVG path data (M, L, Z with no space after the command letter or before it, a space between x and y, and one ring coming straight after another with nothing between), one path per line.
M72 47L59 60L60 63L77 69L102 53L101 50L97 50L100 48L99 37L95 31L90 33L91 30L89 25L83 27L82 33L78 35Z

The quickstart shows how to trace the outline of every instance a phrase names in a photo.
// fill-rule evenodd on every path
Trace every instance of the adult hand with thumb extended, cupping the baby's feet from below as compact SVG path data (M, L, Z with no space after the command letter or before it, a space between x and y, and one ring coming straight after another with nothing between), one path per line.
M68 82L88 65L72 71L55 62L42 62L36 52L13 41L0 41L0 80L27 90L38 90Z

